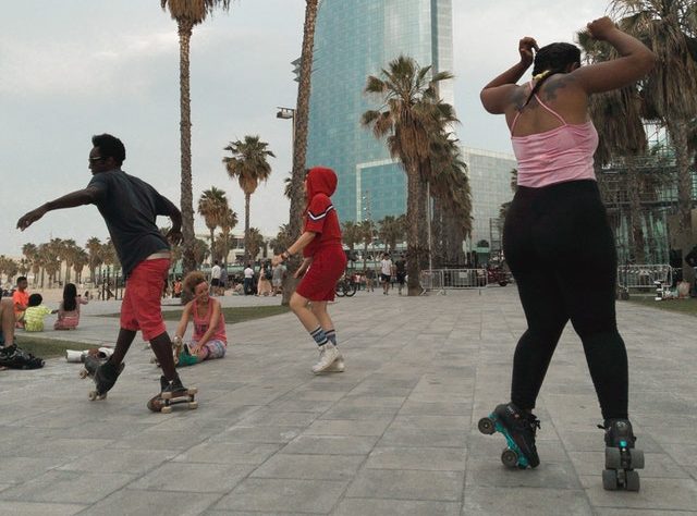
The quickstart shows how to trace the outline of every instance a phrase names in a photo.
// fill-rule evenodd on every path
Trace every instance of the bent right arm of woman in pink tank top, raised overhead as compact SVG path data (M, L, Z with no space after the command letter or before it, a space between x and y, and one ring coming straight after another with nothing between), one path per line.
M610 91L628 86L648 74L656 54L638 39L623 33L608 16L587 25L594 39L608 41L620 54L612 61L580 66L571 76L587 94Z

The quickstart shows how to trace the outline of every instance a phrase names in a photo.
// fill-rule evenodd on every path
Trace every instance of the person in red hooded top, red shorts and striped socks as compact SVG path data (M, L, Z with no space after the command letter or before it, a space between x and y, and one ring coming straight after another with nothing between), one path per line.
M291 296L290 306L319 346L319 361L313 366L315 374L344 370L334 323L327 312L327 302L334 300L337 282L346 268L339 217L330 198L337 189L337 181L331 169L315 167L309 170L305 177L307 208L303 234L273 257L276 266L303 253L303 263L295 272L295 278L303 280Z

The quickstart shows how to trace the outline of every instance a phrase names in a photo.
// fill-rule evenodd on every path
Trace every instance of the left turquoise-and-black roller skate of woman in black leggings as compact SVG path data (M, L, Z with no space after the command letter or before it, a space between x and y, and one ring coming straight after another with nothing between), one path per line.
M501 462L510 468L536 468L540 464L535 446L539 420L521 410L513 403L499 405L493 411L479 420L479 431L486 434L500 432L506 441L506 449L501 454Z

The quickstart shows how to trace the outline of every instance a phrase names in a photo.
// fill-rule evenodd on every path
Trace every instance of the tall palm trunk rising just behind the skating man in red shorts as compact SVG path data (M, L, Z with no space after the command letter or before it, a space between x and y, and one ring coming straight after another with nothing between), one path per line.
M181 148L181 199L182 207L182 258L183 273L196 269L194 258L194 194L192 187L192 107L189 88L189 41L193 23L179 21L179 82L180 82L180 148Z

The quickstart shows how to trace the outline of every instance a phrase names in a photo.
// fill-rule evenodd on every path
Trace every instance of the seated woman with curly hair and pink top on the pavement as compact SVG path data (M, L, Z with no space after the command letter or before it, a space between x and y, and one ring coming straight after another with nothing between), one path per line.
M173 342L175 344L182 342L189 319L194 321L194 334L189 354L187 355L185 352L180 354L179 366L189 366L211 358L222 358L228 348L228 337L220 302L208 295L209 286L206 278L198 271L189 272L184 278L184 288L192 292L194 298L184 307Z

